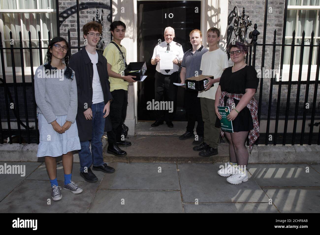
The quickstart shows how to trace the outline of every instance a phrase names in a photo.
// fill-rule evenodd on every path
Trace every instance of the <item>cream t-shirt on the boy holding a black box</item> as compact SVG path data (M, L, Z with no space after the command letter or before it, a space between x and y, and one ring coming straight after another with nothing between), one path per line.
M228 68L228 56L220 48L214 51L207 51L201 58L200 70L202 75L214 76L214 78L221 77L224 68ZM207 91L199 91L198 97L215 99L215 95L219 86L216 82Z

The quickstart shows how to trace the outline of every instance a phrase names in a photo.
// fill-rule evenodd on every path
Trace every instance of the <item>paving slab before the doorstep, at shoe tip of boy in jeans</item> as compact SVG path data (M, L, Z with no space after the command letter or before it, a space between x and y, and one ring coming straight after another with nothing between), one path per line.
M106 174L99 189L180 190L175 163L110 163L116 169ZM159 172L161 171L161 172Z

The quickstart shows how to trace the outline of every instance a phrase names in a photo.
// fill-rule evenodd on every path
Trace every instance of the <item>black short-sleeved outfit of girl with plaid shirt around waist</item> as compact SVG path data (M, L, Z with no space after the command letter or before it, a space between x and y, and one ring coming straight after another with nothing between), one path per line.
M247 65L242 69L232 72L232 67L226 68L220 78L219 85L221 87L221 92L226 91L228 93L234 94L244 94L245 89L256 89L259 85L259 78L257 77L257 71L253 66ZM228 97L224 97L224 106L226 106ZM239 100L234 99L237 106ZM230 107L231 108L231 107ZM235 120L232 121L233 131L250 131L253 129L252 117L250 110L244 107L243 110L239 112ZM217 118L216 127L220 127L220 120Z

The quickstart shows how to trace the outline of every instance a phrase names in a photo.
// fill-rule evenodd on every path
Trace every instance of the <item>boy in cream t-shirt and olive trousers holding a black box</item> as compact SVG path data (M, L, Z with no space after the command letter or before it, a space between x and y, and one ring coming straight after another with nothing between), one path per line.
M204 121L204 142L201 145L193 147L202 157L210 157L218 154L218 140L220 128L215 127L216 113L214 110L214 99L219 86L220 76L225 68L228 67L228 56L218 47L220 40L219 29L212 27L207 31L207 43L209 51L203 54L200 70L203 75L214 76L214 79L208 78L209 82L206 89L199 91L198 97L201 102L201 113Z

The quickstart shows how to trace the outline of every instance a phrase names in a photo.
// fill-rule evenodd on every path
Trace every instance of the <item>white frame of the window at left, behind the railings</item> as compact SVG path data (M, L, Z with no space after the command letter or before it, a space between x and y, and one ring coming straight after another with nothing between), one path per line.
M16 0L16 5L17 5L17 9L0 9L0 14L2 13L52 13L52 14L57 14L57 9L52 9L52 8L48 8L48 9L39 9L39 1L41 0L36 0L37 3L37 9L19 9L19 0ZM52 1L53 3L55 3L55 1ZM58 24L59 22L57 22ZM27 47L29 46L29 37L28 38L24 38L24 34L23 34L23 21L22 18L20 19L20 26L21 26L21 33L22 33L22 42L27 42ZM2 34L2 45L3 47L5 47L5 42L10 41L10 40L4 40L4 23L2 20L2 17L0 18L0 31ZM44 46L43 41L48 40L48 34L44 35L43 32L43 22L42 22L42 15L40 14L40 32L41 32L41 46ZM52 33L52 32L51 32ZM28 35L28 34L27 34ZM52 34L51 34L52 37ZM31 39L32 42L39 42L38 39ZM34 50L39 50L39 49L34 49ZM42 61L44 62L44 59L46 58L46 49L42 49ZM25 52L25 49L24 49ZM26 63L26 53L23 53L23 59L24 59L24 63ZM19 57L20 58L20 57ZM27 58L29 59L29 58ZM7 59L6 59L6 55L5 55L5 50L4 50L4 67L5 67L5 72L6 75L13 75L12 72L12 67L8 67L7 66ZM33 67L33 71L35 72L38 66L34 66ZM2 75L2 67L0 64L0 75ZM22 74L22 69L20 66L16 66L15 67L15 71L16 71L16 75L21 75ZM31 67L27 67L24 66L24 74L25 75L31 75Z

